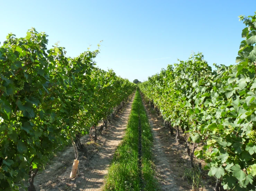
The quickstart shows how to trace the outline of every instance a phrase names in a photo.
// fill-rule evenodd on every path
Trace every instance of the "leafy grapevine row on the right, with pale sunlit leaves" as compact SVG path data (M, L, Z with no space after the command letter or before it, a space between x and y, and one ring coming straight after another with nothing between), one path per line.
M214 64L212 70L202 53L193 53L139 88L177 132L182 128L189 134L189 140L184 136L186 144L202 144L202 149L188 153L192 164L194 155L208 163L208 175L225 190L255 191L256 12L239 18L246 27L238 64Z

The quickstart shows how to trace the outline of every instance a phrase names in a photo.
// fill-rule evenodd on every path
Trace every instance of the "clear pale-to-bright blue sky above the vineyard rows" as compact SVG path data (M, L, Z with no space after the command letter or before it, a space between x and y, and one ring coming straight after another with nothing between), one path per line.
M113 69L130 81L147 80L177 58L203 52L210 66L230 65L241 42L239 15L253 15L255 6L237 0L103 1L0 0L0 42L12 32L25 37L29 28L46 32L74 57L97 49L101 69Z

